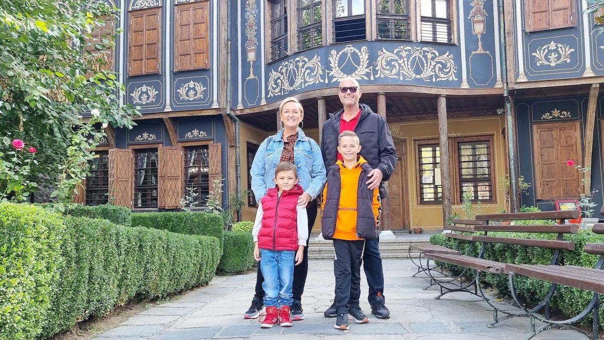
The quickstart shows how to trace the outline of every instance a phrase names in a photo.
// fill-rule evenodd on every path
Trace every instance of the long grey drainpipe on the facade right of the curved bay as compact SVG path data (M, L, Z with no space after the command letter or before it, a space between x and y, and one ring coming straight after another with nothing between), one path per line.
M506 59L506 15L503 10L503 1L499 0L499 16L500 16L500 54L501 54L501 77L503 78L503 100L505 103L506 110L506 133L507 133L507 145L508 154L510 158L510 205L512 206L513 212L518 212L518 181L516 180L516 140L514 140L514 133L512 130L512 100L507 88L507 59Z

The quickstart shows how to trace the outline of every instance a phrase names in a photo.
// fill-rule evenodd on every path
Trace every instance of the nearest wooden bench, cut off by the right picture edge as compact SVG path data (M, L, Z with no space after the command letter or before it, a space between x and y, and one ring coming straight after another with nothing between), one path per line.
M604 223L594 225L592 231L596 234L604 234ZM528 276L539 280L549 281L552 283L551 289L555 290L558 284L570 286L582 290L593 292L591 302L583 309L579 315L574 318L565 320L551 320L539 315L538 311L527 310L524 308L515 290L511 290L512 297L516 304L525 312L528 313L531 319L532 333L526 339L548 329L574 329L585 334L588 338L597 339L599 333L599 311L600 299L599 295L604 294L604 244L603 243L586 243L583 247L583 252L599 255L600 258L594 268L576 267L576 266L557 266L556 264L541 265L541 264L506 264L506 271L509 274L510 287L513 287L513 278L515 275ZM574 327L573 324L585 318L589 313L593 312L593 324L591 337L582 329ZM545 322L545 325L535 330L535 319Z

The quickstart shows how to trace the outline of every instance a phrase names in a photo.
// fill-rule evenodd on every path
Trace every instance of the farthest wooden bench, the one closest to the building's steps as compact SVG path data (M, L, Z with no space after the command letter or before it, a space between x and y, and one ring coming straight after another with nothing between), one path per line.
M476 221L476 220L452 220L451 224L449 224L448 226L445 227L445 232L451 232L452 235L455 236L449 236L452 238L456 238L458 241L461 240L467 240L466 239L466 233L469 234L473 234L474 233L474 226L480 226L480 225L484 225L484 221ZM419 252L419 255L417 255L417 258L414 258L413 255L411 255L411 250L415 250L416 252ZM472 247L468 247L466 250L463 251L463 255L469 255L469 253L471 252ZM416 277L418 274L420 273L428 273L428 267L425 266L425 263L423 263L422 258L425 257L425 254L427 253L434 253L434 254L456 254L456 255L462 255L461 253L461 242L457 242L455 243L454 249L449 249L447 247L443 247L443 246L439 246L438 244L411 244L411 246L408 248L408 253L409 253L409 258L411 259L411 262L413 262L413 264L415 264L417 266L417 272L414 273L412 275L412 277ZM430 278L432 278L433 275L435 275L434 272L440 273L441 275L444 275L442 273L442 269L439 270L437 269L437 267L432 267L430 268L431 270L431 275L429 275ZM452 278L451 281L453 282L457 282L457 279L460 278L461 276L463 276L465 274L465 272L461 273L458 277L456 278ZM428 289L431 286L434 286L434 281L431 280L429 286L425 287L424 290Z

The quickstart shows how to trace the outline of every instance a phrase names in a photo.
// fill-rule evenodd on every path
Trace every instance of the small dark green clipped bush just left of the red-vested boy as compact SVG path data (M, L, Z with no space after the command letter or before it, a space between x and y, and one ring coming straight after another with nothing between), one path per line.
M243 273L254 267L254 239L249 232L225 232L222 258L218 270L222 273Z

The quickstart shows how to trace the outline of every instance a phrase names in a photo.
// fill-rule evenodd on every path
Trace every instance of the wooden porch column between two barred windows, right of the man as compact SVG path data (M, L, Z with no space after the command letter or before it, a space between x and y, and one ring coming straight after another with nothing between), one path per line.
M439 110L440 182L443 189L443 226L451 216L451 172L449 171L449 142L447 129L447 99L444 94L437 100Z

